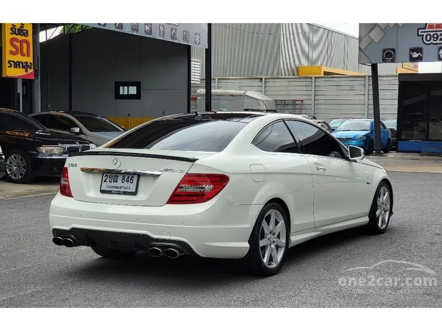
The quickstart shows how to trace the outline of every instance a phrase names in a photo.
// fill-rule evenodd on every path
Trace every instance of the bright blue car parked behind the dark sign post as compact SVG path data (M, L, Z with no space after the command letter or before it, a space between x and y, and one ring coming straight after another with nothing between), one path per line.
M365 154L370 155L375 148L375 123L374 120L346 120L336 128L333 135L342 144L361 147ZM384 153L391 149L391 131L381 122L381 148Z

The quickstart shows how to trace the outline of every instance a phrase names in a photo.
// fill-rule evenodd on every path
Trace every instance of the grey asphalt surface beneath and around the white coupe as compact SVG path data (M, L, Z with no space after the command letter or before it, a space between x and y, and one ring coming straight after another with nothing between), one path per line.
M347 230L290 249L271 278L229 261L99 258L51 242L52 195L0 200L0 307L440 307L442 174L390 172L380 236Z

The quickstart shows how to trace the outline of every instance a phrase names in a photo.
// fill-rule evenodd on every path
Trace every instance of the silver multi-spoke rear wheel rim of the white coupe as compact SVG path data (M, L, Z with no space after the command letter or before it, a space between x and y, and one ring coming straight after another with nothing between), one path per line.
M280 264L285 243L284 218L278 210L270 209L264 216L260 229L260 252L266 267L273 269Z

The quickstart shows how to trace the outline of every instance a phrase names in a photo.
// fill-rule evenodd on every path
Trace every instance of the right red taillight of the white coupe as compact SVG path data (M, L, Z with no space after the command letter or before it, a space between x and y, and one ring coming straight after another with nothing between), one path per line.
M175 188L168 204L193 204L209 201L229 182L225 174L186 173Z

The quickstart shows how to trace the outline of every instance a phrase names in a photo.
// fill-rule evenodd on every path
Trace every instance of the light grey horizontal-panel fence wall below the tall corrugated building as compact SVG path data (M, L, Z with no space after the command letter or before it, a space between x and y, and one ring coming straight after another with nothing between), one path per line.
M263 84L264 79L264 84ZM192 86L196 95L201 84ZM253 90L264 93L281 104L282 100L302 99L303 114L315 114L326 121L338 117L373 117L372 82L369 76L262 77L212 79L212 88ZM264 87L264 89L263 89ZM379 104L382 119L396 118L397 75L379 76ZM312 102L314 100L314 102ZM192 102L192 108L196 102ZM287 109L287 108L286 108Z

